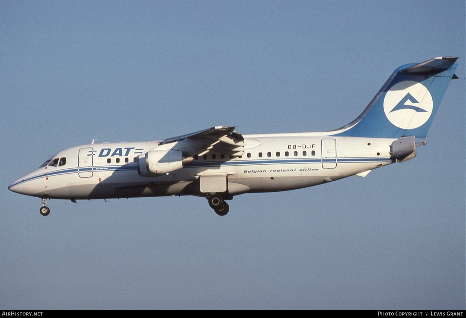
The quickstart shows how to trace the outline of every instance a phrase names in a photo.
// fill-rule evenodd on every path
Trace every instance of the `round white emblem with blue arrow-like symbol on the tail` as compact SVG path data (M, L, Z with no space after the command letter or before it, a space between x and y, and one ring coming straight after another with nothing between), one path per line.
M388 90L384 98L384 112L390 122L402 129L424 125L431 117L432 95L421 83L405 80Z

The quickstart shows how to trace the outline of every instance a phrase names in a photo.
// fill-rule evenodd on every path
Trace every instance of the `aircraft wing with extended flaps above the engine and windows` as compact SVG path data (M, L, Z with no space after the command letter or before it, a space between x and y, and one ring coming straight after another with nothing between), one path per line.
M223 153L230 156L244 155L244 138L234 131L236 126L215 126L164 140L164 144L178 142L177 149L190 155L204 155L207 152Z

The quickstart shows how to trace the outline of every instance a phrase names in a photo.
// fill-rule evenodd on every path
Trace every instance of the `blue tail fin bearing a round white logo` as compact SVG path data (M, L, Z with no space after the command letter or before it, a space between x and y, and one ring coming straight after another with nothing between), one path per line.
M336 136L425 138L454 74L457 57L398 67L358 118Z

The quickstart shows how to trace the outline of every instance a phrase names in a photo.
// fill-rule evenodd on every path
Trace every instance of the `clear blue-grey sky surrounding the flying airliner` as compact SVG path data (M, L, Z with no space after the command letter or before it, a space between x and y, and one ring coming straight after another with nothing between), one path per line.
M464 1L2 1L0 308L465 309ZM237 125L326 131L459 56L418 157L291 192L41 200L53 153Z

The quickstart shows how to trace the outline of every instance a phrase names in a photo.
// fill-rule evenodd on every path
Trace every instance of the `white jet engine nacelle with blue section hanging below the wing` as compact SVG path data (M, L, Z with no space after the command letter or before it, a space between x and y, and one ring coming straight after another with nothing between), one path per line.
M137 157L137 173L143 177L157 177L181 169L193 161L192 156L178 150L151 150Z

